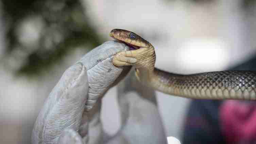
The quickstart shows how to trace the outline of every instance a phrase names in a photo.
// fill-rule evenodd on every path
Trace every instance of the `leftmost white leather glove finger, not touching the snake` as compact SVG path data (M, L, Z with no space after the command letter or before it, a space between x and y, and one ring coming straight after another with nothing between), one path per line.
M86 68L82 63L67 69L41 109L32 132L32 143L57 143L67 128L78 130L88 93Z

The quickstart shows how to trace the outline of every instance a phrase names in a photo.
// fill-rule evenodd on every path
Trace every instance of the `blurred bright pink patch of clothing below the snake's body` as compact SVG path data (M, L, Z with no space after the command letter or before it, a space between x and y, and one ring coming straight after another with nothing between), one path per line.
M256 103L225 101L220 107L220 124L228 144L256 140Z

